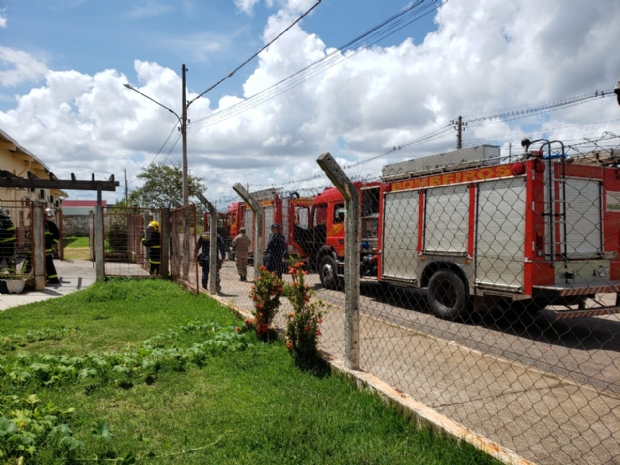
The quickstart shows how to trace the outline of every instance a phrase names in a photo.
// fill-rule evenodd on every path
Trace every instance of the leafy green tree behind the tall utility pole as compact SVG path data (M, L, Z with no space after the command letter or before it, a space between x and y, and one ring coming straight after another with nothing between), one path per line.
M180 163L166 165L151 163L139 174L143 179L142 187L129 193L126 206L140 206L148 208L167 208L181 203L183 198L183 170ZM195 196L204 192L205 178L187 175L188 195Z

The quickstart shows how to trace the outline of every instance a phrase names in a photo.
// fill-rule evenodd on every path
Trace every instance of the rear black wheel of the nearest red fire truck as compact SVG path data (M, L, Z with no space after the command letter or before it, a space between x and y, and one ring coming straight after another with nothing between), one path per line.
M439 270L428 282L428 304L433 314L444 320L456 320L467 311L465 283L450 270Z

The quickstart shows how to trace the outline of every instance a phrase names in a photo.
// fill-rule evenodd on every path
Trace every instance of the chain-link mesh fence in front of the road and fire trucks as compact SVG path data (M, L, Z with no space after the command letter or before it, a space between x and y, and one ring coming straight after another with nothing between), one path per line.
M535 463L617 463L617 163L613 151L559 142L506 158L482 146L354 183L359 236L345 234L336 188L278 192L261 201L262 224L282 225L307 282L333 304L323 350ZM253 215L244 210L245 225ZM231 261L220 273L220 296L251 311L251 282ZM289 311L284 299L278 326Z

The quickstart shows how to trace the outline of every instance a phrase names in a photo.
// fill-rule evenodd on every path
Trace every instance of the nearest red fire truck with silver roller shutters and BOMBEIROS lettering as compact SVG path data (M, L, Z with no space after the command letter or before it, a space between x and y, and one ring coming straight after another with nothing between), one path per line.
M571 163L572 161L572 163ZM481 146L383 168L361 193L361 275L428 288L441 318L471 300L554 307L556 318L617 313L586 300L620 292L620 170L549 151L504 161ZM324 287L343 280L344 201L335 189L309 212L305 250ZM471 299L471 297L475 297ZM570 306L576 305L573 309Z

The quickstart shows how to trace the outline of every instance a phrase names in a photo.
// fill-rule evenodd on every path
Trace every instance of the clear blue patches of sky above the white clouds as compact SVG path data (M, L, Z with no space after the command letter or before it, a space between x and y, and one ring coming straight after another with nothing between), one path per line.
M206 90L258 51L264 45L265 23L278 11L277 5L257 3L248 13L232 0L4 0L0 4L7 17L7 27L0 30L2 45L39 57L56 71L93 75L115 69L135 81L136 59L179 73L185 64L190 70L187 85L194 92ZM324 0L303 25L329 46L338 47L407 4L404 0ZM433 15L428 15L381 45L398 44L409 36L421 40L433 29ZM255 62L212 95L239 93ZM6 69L7 63L2 66ZM15 90L26 92L32 84L26 82ZM0 108L14 106L13 94L6 90L2 94Z

